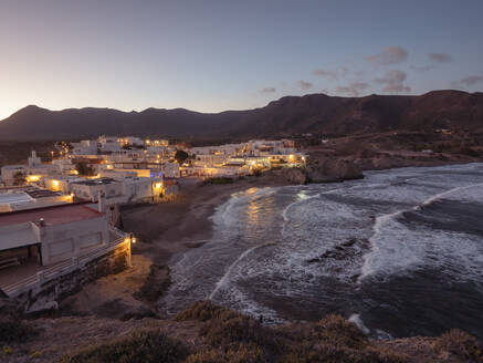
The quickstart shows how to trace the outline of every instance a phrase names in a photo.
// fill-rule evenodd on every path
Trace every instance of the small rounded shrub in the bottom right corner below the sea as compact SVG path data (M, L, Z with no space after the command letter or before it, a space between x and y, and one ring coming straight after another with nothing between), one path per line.
M447 352L464 360L483 362L483 355L476 339L458 329L453 329L438 338L434 349L437 352Z

